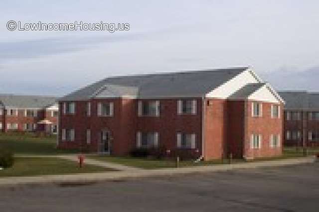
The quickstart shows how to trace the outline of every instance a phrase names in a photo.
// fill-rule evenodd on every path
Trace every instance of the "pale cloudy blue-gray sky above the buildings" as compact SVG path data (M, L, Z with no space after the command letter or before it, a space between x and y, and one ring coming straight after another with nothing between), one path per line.
M319 91L318 0L1 0L0 93L63 96L110 76L251 66L278 90ZM115 31L9 31L129 23Z

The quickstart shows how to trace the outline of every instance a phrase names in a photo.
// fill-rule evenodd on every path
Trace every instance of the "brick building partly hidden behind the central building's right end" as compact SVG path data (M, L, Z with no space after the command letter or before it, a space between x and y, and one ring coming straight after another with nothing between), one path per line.
M319 93L280 92L286 101L284 144L319 146Z

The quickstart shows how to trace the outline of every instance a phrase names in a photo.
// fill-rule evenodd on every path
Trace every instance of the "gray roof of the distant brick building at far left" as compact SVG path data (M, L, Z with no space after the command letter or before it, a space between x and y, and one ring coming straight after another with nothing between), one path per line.
M56 104L56 97L0 95L0 103L4 107L44 108Z

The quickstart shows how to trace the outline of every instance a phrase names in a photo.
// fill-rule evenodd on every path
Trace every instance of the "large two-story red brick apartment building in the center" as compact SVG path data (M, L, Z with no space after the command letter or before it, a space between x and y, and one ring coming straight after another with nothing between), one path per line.
M59 100L58 146L205 160L282 154L284 101L251 68L111 77Z

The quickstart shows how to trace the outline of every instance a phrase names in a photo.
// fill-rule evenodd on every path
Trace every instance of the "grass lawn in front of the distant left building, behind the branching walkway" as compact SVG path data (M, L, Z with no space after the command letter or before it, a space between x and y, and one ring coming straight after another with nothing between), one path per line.
M15 154L63 154L72 150L56 149L56 136L36 137L33 133L0 133L0 148L11 149Z

